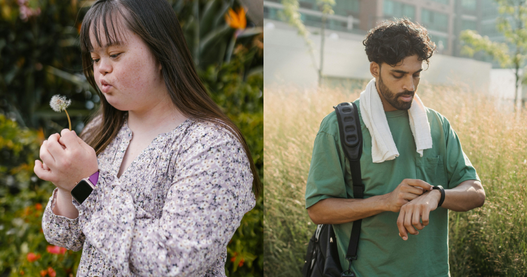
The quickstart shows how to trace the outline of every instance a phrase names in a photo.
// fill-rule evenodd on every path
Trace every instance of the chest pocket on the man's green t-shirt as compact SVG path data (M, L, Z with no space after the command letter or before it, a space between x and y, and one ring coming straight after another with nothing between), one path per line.
M417 179L421 179L432 186L448 187L448 176L446 175L443 156L417 158L415 170Z

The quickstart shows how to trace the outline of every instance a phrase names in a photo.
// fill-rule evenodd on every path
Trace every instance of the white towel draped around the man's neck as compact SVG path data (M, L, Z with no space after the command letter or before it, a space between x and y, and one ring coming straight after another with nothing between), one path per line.
M417 94L414 94L412 107L408 110L410 129L414 135L416 151L423 157L423 150L432 148L430 123L426 109ZM360 115L372 136L372 159L374 163L393 160L399 156L392 132L388 127L383 102L380 100L375 78L369 81L366 90L360 93Z

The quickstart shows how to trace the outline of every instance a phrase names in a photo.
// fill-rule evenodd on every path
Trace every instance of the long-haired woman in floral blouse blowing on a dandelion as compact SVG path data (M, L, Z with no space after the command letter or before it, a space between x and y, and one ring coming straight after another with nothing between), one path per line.
M46 240L83 249L77 276L225 276L227 243L261 183L239 129L200 82L173 9L96 1L81 47L101 107L79 136L50 136L35 161L57 186ZM72 198L87 177L93 191Z

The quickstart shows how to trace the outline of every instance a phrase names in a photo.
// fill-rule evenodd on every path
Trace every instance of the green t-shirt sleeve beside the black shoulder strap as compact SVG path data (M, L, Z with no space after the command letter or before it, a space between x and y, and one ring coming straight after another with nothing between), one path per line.
M318 132L307 177L306 208L330 197L347 198L342 166L345 160L337 144L333 135Z

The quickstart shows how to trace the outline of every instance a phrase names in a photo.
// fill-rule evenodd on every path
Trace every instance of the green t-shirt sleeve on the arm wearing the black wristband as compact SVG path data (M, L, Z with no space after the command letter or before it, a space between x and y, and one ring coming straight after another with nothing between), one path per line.
M461 142L456 132L444 119L443 129L446 141L446 171L448 174L448 188L454 188L466 180L480 180L476 169L472 166L469 157L461 148Z

